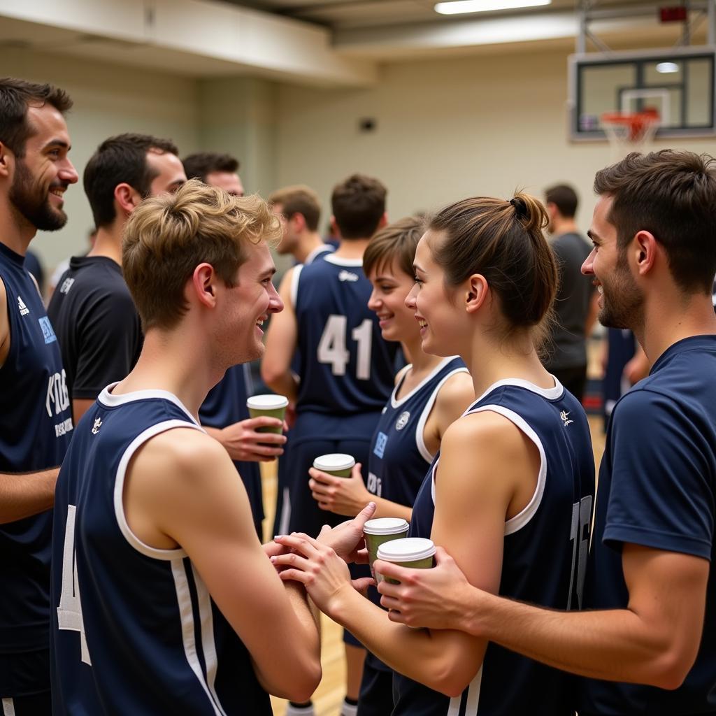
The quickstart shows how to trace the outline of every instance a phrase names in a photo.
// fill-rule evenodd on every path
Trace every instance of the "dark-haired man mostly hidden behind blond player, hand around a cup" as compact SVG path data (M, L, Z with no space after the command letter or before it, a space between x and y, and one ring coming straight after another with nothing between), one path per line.
M203 152L189 155L183 161L188 178L199 179L233 196L243 196L243 186L236 174L238 160L230 155ZM251 505L253 526L263 541L263 490L258 463L283 455L286 437L274 432L256 432L259 427L275 428L283 424L275 417L249 417L246 398L253 395L249 365L243 363L227 369L201 404L199 418L206 432L226 448L241 475Z

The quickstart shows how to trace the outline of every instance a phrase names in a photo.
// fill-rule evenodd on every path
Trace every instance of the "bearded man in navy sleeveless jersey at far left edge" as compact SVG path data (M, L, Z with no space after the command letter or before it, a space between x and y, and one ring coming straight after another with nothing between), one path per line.
M49 716L49 556L58 468L72 435L57 339L24 258L64 226L77 181L67 94L0 79L0 702Z

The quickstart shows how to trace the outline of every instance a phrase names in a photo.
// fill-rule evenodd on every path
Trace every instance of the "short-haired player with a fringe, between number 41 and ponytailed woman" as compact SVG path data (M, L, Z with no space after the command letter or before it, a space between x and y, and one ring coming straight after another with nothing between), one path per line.
M475 400L473 381L463 360L423 352L415 309L405 305L415 283L415 247L424 230L419 218L396 221L376 233L363 255L363 269L373 285L368 306L380 320L383 338L400 342L410 364L398 372L375 430L367 486L358 466L350 478L334 478L311 468L309 485L321 509L354 516L374 500L376 517L410 521L412 505L440 449L442 435ZM374 587L369 588L368 596L379 604L380 595ZM369 653L358 715L388 715L390 710L392 670Z

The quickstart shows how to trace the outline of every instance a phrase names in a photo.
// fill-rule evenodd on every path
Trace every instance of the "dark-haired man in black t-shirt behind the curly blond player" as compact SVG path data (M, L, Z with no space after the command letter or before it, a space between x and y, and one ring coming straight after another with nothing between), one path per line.
M123 134L102 142L84 168L95 246L87 256L72 257L47 309L62 349L75 422L139 357L142 329L122 278L122 231L142 199L185 182L177 154L170 140Z

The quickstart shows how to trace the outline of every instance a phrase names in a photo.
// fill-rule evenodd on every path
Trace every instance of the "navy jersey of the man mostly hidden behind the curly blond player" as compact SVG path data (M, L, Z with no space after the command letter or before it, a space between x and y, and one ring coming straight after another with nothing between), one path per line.
M251 384L248 374L248 363L234 365L226 371L224 377L208 393L206 400L199 409L199 420L208 427L226 427L239 420L247 420L248 397L247 384ZM233 460L233 464L241 475L243 485L246 487L248 501L251 504L253 525L256 527L258 538L263 540L261 522L263 521L263 497L261 495L261 471L258 463Z

